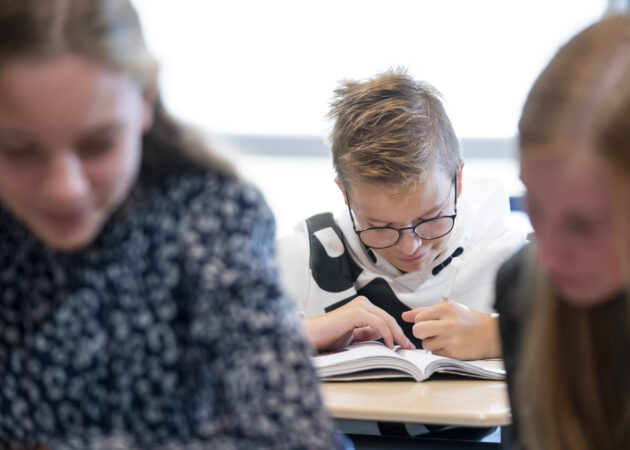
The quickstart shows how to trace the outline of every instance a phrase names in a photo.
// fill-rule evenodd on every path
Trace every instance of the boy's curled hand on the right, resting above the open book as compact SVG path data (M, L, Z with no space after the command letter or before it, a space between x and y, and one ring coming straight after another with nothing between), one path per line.
M402 315L415 322L413 335L431 353L455 359L494 358L501 355L499 320L450 300L421 306Z

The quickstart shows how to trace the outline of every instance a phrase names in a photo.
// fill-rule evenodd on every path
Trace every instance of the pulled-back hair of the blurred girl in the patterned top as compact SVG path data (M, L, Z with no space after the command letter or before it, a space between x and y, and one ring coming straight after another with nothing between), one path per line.
M129 0L2 0L0 70L17 59L45 60L65 53L124 73L143 89L155 88L158 64ZM181 168L232 174L199 134L167 113L159 95L142 148L140 177L150 182Z

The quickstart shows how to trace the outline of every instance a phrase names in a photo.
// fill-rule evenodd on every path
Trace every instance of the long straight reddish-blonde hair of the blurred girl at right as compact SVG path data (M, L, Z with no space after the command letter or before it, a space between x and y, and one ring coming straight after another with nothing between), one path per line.
M630 17L618 16L571 39L539 76L519 123L521 158L558 151L559 143L586 143L586 151L604 161L613 183L627 195L629 124ZM627 267L626 203L616 202L616 234ZM628 290L580 309L559 299L538 274L535 299L516 374L523 439L535 449L627 448Z

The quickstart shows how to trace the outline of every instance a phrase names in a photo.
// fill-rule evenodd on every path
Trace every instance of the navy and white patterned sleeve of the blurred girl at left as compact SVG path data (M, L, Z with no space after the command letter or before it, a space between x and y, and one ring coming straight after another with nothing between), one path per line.
M188 211L184 370L197 437L212 448L339 448L279 287L273 217L260 194L232 182Z

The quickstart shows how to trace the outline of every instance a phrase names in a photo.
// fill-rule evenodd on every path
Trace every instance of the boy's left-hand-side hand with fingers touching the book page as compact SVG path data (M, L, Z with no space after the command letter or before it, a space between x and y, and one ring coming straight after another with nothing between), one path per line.
M389 348L394 342L403 348L415 348L396 319L363 296L321 316L305 318L302 328L311 346L318 350L379 338Z

